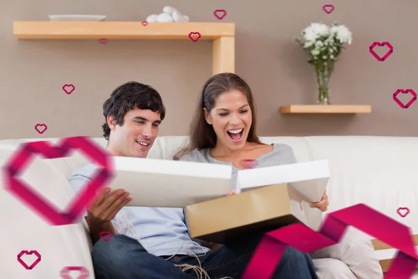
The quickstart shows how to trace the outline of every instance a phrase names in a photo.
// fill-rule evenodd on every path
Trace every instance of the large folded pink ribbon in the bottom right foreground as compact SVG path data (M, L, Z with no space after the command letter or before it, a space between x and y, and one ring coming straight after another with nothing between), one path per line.
M385 273L385 279L407 279L412 276L418 257L410 228L366 204L356 204L329 213L319 232L302 224L293 224L266 233L254 251L242 279L271 278L287 246L305 253L332 246L341 241L348 225L398 250Z

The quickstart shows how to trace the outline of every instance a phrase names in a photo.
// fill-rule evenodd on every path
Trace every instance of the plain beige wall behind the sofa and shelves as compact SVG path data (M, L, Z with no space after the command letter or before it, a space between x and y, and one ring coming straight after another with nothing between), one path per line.
M100 137L102 103L123 82L154 86L167 106L160 135L185 135L201 85L212 74L212 45L199 41L22 41L14 20L48 20L49 14L107 15L107 20L144 20L166 5L194 22L236 24L236 73L249 82L258 108L259 135L418 136L418 101L402 110L396 89L418 93L418 2L412 0L332 1L327 15L319 0L0 0L0 139ZM293 36L311 22L334 20L353 32L336 65L330 90L334 104L372 105L372 114L281 115L280 105L314 103L314 69ZM412 37L411 37L412 36ZM369 54L374 41L389 41L394 53L384 62ZM71 95L63 84L74 84ZM39 135L36 123L48 130ZM413 128L415 126L415 128Z

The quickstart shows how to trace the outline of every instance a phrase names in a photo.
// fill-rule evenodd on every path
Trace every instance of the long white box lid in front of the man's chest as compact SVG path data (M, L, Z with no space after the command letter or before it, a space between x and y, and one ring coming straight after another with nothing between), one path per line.
M228 195L232 167L210 163L114 156L116 176L107 185L123 188L127 206L178 207Z

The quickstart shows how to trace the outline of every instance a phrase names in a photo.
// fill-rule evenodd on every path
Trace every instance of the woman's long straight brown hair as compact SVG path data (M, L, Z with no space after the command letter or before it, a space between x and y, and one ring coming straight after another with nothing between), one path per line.
M217 97L224 92L232 90L238 90L244 93L247 97L249 107L251 108L252 124L251 128L249 128L247 142L260 143L255 132L256 110L251 89L247 82L242 80L238 75L233 73L221 73L210 77L203 85L196 112L194 113L192 123L189 126L189 142L176 153L174 160L179 160L194 149L215 147L217 136L212 125L206 122L203 108L206 108L206 110L210 112L215 106Z

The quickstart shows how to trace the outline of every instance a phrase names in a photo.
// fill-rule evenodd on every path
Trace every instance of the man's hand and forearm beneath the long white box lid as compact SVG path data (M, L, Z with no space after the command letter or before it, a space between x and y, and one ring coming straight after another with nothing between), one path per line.
M118 234L111 223L116 214L132 199L129 193L118 189L110 193L110 188L104 188L87 207L86 221L93 241L100 239L101 232Z

